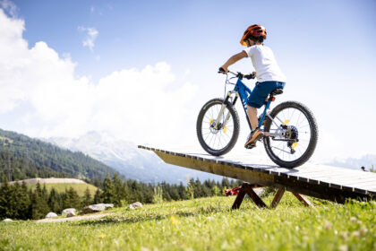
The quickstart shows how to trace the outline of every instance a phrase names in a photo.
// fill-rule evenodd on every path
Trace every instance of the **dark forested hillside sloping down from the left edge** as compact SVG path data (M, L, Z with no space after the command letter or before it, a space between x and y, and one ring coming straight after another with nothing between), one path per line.
M28 136L0 129L0 175L20 180L33 177L104 179L115 169L80 151L62 149Z

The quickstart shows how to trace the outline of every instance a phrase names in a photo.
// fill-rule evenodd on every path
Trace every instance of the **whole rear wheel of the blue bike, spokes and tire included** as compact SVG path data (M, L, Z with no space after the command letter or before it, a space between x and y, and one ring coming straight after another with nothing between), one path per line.
M319 130L311 110L302 103L287 101L274 108L267 117L264 132L265 150L278 166L295 168L309 160L316 148Z

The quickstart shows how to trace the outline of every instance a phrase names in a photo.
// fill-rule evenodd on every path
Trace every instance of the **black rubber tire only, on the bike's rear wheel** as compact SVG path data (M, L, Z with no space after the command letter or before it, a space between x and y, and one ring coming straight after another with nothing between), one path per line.
M270 145L270 138L265 137L263 142L264 142L265 151L268 153L270 160L272 160L274 163L276 163L280 167L292 169L292 168L296 168L298 166L303 165L307 160L309 160L312 157L312 154L315 151L316 145L318 142L319 129L316 124L316 119L312 114L312 111L306 106L304 106L302 103L297 102L297 101L286 101L286 102L279 104L276 108L273 108L273 110L270 113L270 116L274 118L278 115L278 113L280 113L282 110L286 108L296 108L300 110L308 120L310 129L311 129L311 138L310 138L310 142L308 143L308 147L306 151L302 154L300 158L296 160L293 160L293 161L281 160L274 153L274 151L272 151L271 145ZM264 125L265 132L269 132L271 123L272 123L271 119L269 117L266 117L266 121Z

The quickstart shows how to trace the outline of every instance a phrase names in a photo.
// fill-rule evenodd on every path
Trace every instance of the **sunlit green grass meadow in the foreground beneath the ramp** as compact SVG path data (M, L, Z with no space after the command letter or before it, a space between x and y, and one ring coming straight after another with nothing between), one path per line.
M0 250L376 250L376 203L312 199L286 193L277 209L235 197L115 208L103 221L0 222ZM269 204L272 195L264 198Z

